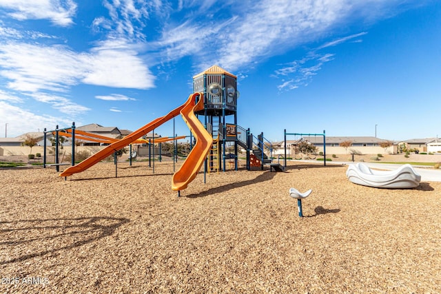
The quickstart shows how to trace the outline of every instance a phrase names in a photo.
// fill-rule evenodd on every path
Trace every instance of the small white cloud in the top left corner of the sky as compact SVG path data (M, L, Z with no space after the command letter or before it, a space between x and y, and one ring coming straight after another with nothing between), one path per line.
M10 10L14 19L50 19L52 23L68 26L73 23L76 3L72 0L2 0L0 7Z

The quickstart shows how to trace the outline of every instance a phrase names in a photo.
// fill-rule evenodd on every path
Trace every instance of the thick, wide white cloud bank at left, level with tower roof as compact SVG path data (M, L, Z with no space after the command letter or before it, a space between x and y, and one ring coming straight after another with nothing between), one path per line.
M9 80L10 89L24 92L67 92L81 82L107 87L154 87L154 76L130 48L94 48L77 53L61 45L0 43L0 69L0 76Z

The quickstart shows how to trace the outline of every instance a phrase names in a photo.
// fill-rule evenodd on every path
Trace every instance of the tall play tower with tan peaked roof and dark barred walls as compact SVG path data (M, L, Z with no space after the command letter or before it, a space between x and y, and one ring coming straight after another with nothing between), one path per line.
M210 162L210 168L218 165L218 169L222 169L223 165L225 171L227 143L234 144L237 168L237 77L222 67L213 65L193 76L193 91L204 94L204 109L196 114L204 116L205 128L213 138L218 138L219 148L212 152L212 156L218 156L222 160ZM232 154L231 150L229 152Z

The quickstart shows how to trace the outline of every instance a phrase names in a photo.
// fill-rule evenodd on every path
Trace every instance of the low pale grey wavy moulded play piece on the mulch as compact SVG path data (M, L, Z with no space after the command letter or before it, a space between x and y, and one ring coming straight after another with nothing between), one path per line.
M386 189L415 188L421 181L421 176L411 165L402 165L392 171L378 171L358 162L348 166L346 176L354 184Z

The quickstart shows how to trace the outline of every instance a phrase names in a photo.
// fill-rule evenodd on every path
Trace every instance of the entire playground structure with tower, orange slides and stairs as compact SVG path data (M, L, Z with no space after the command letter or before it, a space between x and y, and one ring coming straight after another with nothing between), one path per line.
M185 189L189 182L196 177L204 162L205 171L225 171L226 160L229 159L229 163L234 165L234 169L237 170L239 146L246 150L247 170L250 170L251 167L263 169L264 165L269 165L271 171L272 169L285 171L282 165L271 163L272 159L265 154L265 151L269 151L272 157L272 145L263 137L263 133L256 137L249 129L237 125L238 91L236 90L236 76L214 65L205 72L194 76L193 81L194 94L190 94L183 105L173 109L167 115L147 123L147 125L124 138L113 139L99 135L90 136L86 132L75 132L74 124L69 129L58 129L57 127L57 143L59 134L72 137L72 154L74 154L73 142L75 138L96 140L109 144L77 165L74 164L74 156L72 156L72 166L65 169L60 176L66 178L84 171L127 145L130 145L130 154L132 154L132 143L145 143L145 140L140 139L142 136L148 132L154 132L156 127L178 114L181 114L190 132L196 138L196 145L190 151L181 168L174 174L172 190L181 191ZM203 123L201 123L198 116L203 116ZM161 142L161 139L154 140L154 143L159 142ZM227 144L233 144L233 153L230 150L227 154ZM132 160L132 156L129 158ZM57 171L59 171L58 160L55 165Z

